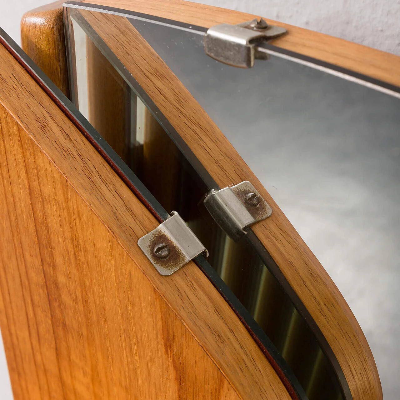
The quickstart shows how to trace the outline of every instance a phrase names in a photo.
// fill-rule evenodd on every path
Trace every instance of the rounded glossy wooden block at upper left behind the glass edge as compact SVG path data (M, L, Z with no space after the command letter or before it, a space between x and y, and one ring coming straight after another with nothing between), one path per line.
M21 19L21 47L69 98L63 1L26 12Z

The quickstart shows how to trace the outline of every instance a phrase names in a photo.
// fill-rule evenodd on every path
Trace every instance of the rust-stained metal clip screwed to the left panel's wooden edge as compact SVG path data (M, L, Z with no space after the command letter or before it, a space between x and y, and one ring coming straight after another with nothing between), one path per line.
M171 275L190 260L208 251L176 211L138 245L161 275Z

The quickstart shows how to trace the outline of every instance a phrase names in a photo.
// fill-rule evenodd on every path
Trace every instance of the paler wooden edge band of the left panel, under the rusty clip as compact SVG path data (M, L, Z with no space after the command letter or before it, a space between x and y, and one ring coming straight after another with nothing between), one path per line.
M119 244L118 251L130 258L131 261L128 262L130 268L137 269L135 274L143 274L146 277L154 291L183 322L186 329L228 378L240 397L290 400L276 372L239 318L193 262L169 277L161 276L156 272L137 246L138 238L158 226L156 219L118 178L60 108L2 46L0 46L0 78L2 106L64 176L75 193L74 198L83 199L91 212L96 214L98 220L106 226L110 235ZM28 155L31 151L29 146L26 146ZM42 172L43 168L38 173ZM20 186L16 185L15 190L20 190ZM60 195L63 193L52 187L51 193L54 192ZM64 193L63 196L64 199L60 204L68 203L68 194ZM37 215L38 220L42 221L40 219L42 214L39 212ZM61 216L57 214L57 218ZM64 223L62 218L60 223ZM95 240L96 232L93 235L93 240ZM50 235L48 239L50 238L52 239L53 236ZM63 239L60 238L60 240ZM46 243L44 248L47 246ZM76 239L74 243L77 243ZM77 245L76 251L85 252L86 250L80 249ZM29 254L28 252L28 259ZM124 258L126 258L125 255ZM66 262L68 262L68 257ZM116 262L117 266L118 263L119 261ZM50 270L54 269L51 260L50 267ZM68 270L66 273L70 276ZM126 274L128 279L129 268ZM64 287L66 281L62 282L62 287ZM129 282L132 282L131 278ZM49 285L51 287L51 282ZM107 300L107 297L104 297L104 300ZM114 302L114 300L110 292L108 301ZM38 307L40 306L39 303ZM54 310L58 312L57 305ZM126 316L126 318L130 321L131 317ZM62 332L64 332L61 333L62 335L69 334L64 322ZM24 331L21 334L26 336L28 332ZM190 352L182 353L182 357L187 354L190 355ZM58 353L57 356L59 356ZM44 358L44 362L46 360ZM106 361L103 360L103 362ZM72 368L71 371L79 374L80 365L75 364L78 368L76 370L71 367L71 364L68 364L66 368ZM192 368L196 368L196 365ZM192 398L198 398L196 394L193 396Z

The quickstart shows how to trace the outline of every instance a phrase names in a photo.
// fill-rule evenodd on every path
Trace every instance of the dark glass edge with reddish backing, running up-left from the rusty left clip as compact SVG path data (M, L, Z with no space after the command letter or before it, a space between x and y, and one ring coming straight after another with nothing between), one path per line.
M159 222L165 221L169 214L162 208L156 198L147 190L132 170L122 161L120 156L89 124L88 120L68 100L64 93L44 74L32 59L0 28L0 43L16 58L30 76L42 87L48 96L66 114L72 123L80 130L92 146L101 154L116 174L146 205Z

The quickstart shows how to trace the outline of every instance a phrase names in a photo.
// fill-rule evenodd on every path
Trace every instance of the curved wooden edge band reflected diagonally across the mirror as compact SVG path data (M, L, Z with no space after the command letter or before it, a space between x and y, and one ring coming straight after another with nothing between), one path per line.
M86 10L81 13L206 166L216 183L226 187L250 180L272 206L272 216L255 224L254 232L328 340L354 400L382 399L374 358L348 304L230 142L126 18Z

